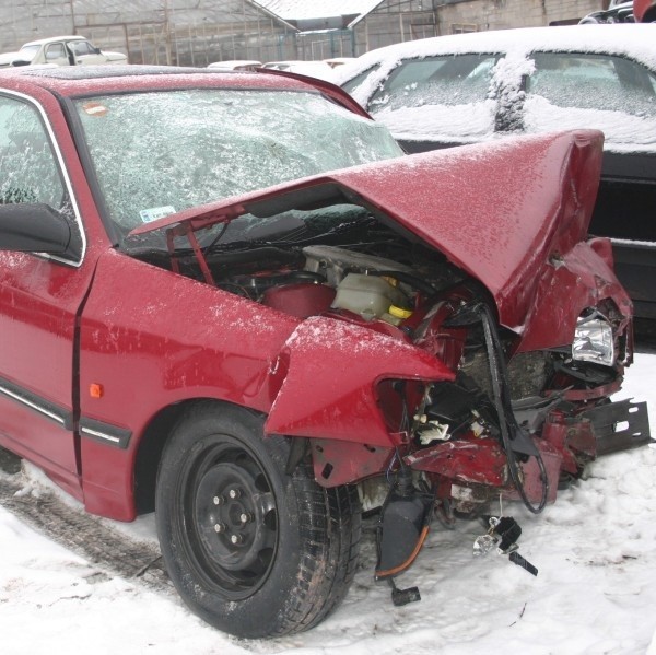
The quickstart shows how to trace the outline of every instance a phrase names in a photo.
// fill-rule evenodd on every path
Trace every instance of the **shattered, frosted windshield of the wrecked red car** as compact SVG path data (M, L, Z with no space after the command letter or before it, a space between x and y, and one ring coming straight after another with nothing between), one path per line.
M106 210L124 234L191 207L402 154L386 128L317 93L204 89L75 106Z

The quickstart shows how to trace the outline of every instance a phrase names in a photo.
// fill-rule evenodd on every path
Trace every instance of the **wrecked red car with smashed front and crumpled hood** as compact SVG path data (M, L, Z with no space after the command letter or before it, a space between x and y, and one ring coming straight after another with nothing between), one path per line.
M380 507L394 587L437 517L540 512L649 441L610 402L631 303L586 241L602 136L403 156L321 82L0 75L0 444L89 512L155 511L189 607L321 621ZM514 561L519 529L491 517Z

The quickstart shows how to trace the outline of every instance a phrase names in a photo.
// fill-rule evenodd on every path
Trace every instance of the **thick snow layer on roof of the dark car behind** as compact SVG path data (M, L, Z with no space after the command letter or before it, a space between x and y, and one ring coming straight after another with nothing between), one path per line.
M527 55L543 50L619 55L636 59L652 70L656 70L655 36L653 25L633 23L520 27L449 34L371 50L355 61L341 67L339 79L343 83L380 61L393 66L400 59L440 55L477 52Z

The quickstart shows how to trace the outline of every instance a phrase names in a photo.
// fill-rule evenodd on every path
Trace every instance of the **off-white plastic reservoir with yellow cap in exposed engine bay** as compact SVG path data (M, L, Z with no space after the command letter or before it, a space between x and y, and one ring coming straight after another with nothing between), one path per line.
M387 280L376 276L349 273L337 285L331 307L348 309L365 320L373 320L387 314L390 306L402 307L407 304L406 294Z

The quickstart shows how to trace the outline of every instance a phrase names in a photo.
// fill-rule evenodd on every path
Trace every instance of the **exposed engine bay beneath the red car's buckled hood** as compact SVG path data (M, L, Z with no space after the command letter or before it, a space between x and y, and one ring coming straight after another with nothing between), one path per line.
M344 202L285 207L169 231L166 244L149 234L128 250L300 319L330 316L412 343L491 394L482 327L462 318L480 303L494 315L489 291L379 211ZM607 366L572 367L566 348L516 353L520 336L496 320L495 330L513 399L541 396L563 378L575 388L616 378Z

